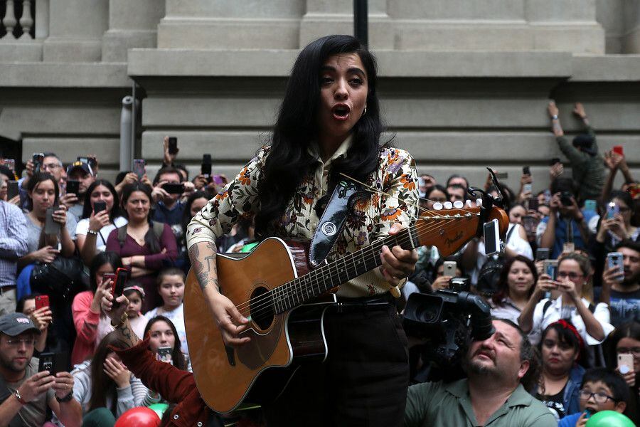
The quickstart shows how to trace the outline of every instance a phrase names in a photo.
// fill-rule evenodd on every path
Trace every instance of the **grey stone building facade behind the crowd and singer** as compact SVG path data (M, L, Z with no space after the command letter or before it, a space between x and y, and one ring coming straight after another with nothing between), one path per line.
M136 157L153 170L162 137L175 135L192 172L208 152L230 176L268 140L299 48L353 33L351 0L0 5L3 150L23 161L95 153L110 178L134 84ZM582 101L600 147L624 145L638 174L640 0L369 0L368 10L389 135L421 172L481 183L492 166L517 186L526 163L541 187L548 159L562 158L545 111L553 98L570 134Z

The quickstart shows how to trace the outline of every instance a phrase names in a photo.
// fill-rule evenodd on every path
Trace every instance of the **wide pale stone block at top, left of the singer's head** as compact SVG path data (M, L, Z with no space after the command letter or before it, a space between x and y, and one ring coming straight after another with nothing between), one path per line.
M158 48L295 49L304 0L166 0Z

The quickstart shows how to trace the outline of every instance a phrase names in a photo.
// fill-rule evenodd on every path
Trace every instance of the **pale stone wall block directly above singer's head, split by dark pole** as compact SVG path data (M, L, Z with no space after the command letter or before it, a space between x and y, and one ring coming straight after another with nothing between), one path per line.
M385 0L368 1L369 47L393 49L393 23ZM300 47L330 34L353 35L353 0L306 0L300 25Z

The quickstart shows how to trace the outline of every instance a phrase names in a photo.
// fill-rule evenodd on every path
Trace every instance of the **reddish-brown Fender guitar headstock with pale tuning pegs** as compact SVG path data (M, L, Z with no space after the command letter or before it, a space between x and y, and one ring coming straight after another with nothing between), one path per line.
M509 225L506 212L493 206L489 212L492 219L498 220L500 236L505 236ZM476 236L479 220L477 207L429 211L415 221L415 233L420 245L436 246L441 256L448 256Z

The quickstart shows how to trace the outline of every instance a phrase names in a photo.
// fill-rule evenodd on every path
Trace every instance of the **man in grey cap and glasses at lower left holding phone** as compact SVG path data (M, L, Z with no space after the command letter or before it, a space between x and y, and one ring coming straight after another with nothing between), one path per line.
M65 426L80 426L82 407L73 399L73 376L38 372L38 358L32 357L36 334L40 330L22 313L0 317L0 423L42 426L50 408Z

